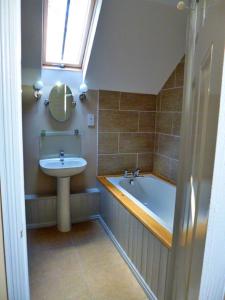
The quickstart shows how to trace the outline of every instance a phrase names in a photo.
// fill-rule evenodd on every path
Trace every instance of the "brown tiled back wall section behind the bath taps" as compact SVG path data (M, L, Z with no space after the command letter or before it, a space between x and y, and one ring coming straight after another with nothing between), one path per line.
M98 174L152 171L156 96L99 92Z

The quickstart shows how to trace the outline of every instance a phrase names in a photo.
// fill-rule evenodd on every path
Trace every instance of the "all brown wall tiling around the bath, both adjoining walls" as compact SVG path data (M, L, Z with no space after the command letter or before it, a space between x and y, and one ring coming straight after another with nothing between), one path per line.
M140 168L176 181L184 60L158 96L99 92L98 174Z

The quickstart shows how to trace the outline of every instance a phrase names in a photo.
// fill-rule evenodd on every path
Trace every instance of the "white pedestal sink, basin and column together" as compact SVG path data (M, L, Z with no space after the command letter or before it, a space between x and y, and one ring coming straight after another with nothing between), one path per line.
M45 174L57 177L57 227L70 231L70 177L83 172L87 162L80 157L47 158L39 160L39 165Z

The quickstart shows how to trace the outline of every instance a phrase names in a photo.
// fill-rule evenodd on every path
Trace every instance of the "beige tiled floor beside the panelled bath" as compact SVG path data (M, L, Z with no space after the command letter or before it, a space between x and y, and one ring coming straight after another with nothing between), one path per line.
M28 230L32 300L146 300L97 221Z

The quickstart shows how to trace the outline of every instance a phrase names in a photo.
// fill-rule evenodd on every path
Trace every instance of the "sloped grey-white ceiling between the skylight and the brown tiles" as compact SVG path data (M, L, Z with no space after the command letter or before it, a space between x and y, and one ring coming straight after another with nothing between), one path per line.
M176 2L103 0L89 87L158 94L185 51L186 14Z

